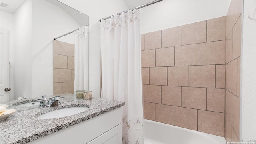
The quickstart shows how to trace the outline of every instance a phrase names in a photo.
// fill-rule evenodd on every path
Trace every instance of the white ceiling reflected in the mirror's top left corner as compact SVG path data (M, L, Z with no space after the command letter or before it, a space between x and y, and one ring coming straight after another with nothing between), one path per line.
M8 4L7 7L0 6L1 10L14 13L18 8L26 1L26 0L0 0L1 2L4 2Z

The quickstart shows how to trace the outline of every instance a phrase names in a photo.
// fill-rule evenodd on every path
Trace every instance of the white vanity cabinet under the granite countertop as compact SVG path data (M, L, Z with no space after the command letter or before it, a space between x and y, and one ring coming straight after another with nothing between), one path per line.
M29 144L122 144L121 107Z

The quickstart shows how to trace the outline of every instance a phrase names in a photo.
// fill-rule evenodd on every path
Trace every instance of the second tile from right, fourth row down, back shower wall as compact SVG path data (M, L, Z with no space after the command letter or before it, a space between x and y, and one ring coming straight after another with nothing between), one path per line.
M206 110L206 88L182 87L182 107Z

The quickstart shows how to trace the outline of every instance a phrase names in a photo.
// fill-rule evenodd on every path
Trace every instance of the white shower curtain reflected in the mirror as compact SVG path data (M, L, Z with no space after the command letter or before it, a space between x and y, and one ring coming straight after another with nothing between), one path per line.
M89 26L82 26L75 31L75 80L74 93L76 90L88 90L89 68Z

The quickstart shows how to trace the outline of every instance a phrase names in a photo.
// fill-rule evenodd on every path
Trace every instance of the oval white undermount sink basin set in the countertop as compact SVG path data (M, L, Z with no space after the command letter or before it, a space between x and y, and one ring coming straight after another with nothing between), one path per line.
M80 112L84 112L88 110L87 107L71 107L71 108L63 108L60 110L54 110L52 112L47 112L40 116L37 116L38 119L50 119L50 118L62 118L65 116L71 116L74 114L78 114Z

